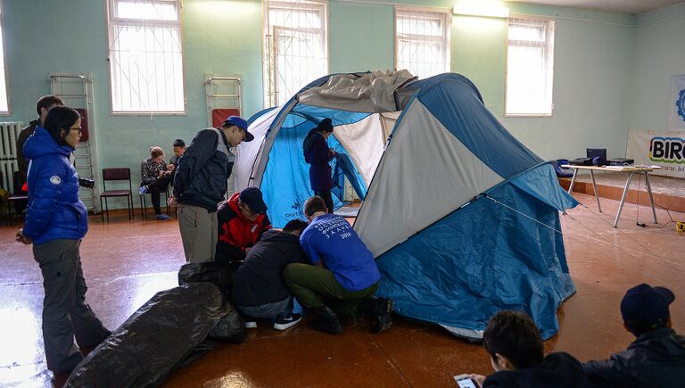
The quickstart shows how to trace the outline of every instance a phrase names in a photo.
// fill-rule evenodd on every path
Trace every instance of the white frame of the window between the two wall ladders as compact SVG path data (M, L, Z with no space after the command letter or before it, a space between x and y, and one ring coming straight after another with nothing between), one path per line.
M187 106L187 100L186 100L186 49L185 49L185 43L183 39L183 16L182 16L182 9L183 9L183 1L182 0L104 0L105 2L105 10L106 10L106 22L107 22L107 61L109 62L107 66L109 78L110 78L110 112L113 115L149 115L151 113L154 113L156 115L184 115L186 114L186 106ZM127 19L127 18L118 18L116 17L116 12L114 10L115 4L121 3L121 2L127 2L127 3L134 3L134 4L169 4L173 3L176 4L176 9L177 9L177 20L176 21L164 21L164 20L142 20L142 19ZM135 25L135 26L140 26L143 28L147 27L156 27L156 28L169 28L169 29L175 29L178 37L178 42L180 43L180 55L181 55L181 68L180 68L180 76L177 75L177 77L180 77L181 81L181 88L180 88L180 93L181 93L181 99L183 100L183 107L182 109L178 110L173 110L173 109L157 109L157 108L152 108L150 109L149 107L144 108L144 109L139 109L139 110L126 110L126 109L117 109L115 106L115 85L114 85L114 74L112 74L112 67L113 67L113 58L112 58L112 44L115 40L115 37L113 36L115 29L114 27L117 25ZM133 90L129 91L133 93Z

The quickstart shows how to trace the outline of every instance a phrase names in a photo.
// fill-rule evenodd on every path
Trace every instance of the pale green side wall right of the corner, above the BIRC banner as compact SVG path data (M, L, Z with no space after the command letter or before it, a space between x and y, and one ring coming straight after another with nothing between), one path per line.
M629 129L665 130L671 76L685 74L685 4L636 18Z

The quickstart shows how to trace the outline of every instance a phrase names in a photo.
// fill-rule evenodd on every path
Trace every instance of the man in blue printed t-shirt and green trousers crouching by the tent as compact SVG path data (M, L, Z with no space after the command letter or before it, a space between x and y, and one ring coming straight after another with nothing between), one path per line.
M328 214L321 197L304 202L304 215L309 227L300 235L300 244L313 265L289 264L283 277L301 305L316 314L310 326L342 333L335 310L351 318L367 316L372 333L387 330L392 300L372 297L381 278L373 254L346 219Z

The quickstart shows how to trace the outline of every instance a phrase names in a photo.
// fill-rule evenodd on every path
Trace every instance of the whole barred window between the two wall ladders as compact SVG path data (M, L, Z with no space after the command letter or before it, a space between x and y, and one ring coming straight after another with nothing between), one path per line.
M184 113L180 0L107 0L111 111Z

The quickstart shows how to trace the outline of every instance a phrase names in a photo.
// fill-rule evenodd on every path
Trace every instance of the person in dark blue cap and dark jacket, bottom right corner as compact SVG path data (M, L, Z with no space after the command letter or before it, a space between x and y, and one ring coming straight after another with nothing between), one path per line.
M626 351L582 366L593 386L685 385L685 336L671 328L669 305L674 300L669 289L646 284L625 293L623 326L637 339Z

